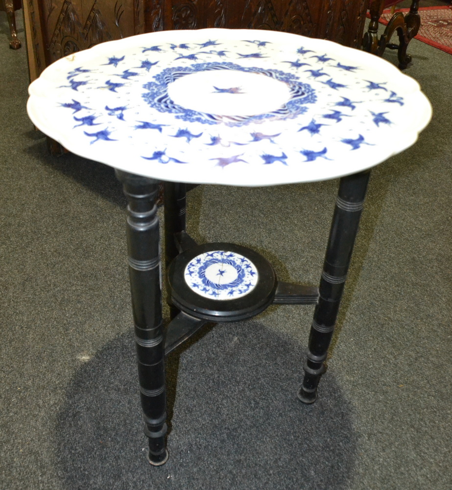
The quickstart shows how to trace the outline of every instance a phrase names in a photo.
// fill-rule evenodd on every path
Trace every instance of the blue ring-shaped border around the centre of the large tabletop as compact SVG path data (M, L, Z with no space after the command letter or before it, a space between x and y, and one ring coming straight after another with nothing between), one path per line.
M190 73L206 72L211 70L236 70L247 73L260 73L267 75L275 80L287 83L290 89L290 100L280 109L266 114L253 116L230 116L225 122L224 116L207 114L204 112L186 109L175 104L168 96L168 85L181 76ZM188 121L190 123L217 124L225 123L228 126L242 126L251 122L262 119L289 119L295 118L307 111L306 104L313 104L317 98L314 89L308 83L299 81L298 76L285 73L281 70L264 70L257 67L244 67L231 62L208 62L197 63L190 67L166 68L158 75L154 75L155 82L149 82L143 85L147 90L143 94L143 99L159 112L169 112L175 114L177 119Z

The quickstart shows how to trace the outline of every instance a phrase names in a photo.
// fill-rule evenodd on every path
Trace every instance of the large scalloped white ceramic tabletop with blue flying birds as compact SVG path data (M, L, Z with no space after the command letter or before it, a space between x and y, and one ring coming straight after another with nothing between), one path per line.
M33 123L64 147L161 180L261 186L334 178L412 145L419 84L339 44L263 30L160 31L50 65Z

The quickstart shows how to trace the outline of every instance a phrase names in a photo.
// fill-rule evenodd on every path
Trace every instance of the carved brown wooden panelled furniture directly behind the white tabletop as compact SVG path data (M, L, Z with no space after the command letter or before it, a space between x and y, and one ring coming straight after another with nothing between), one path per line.
M273 29L360 47L369 0L24 0L34 80L74 51L134 34L203 27Z

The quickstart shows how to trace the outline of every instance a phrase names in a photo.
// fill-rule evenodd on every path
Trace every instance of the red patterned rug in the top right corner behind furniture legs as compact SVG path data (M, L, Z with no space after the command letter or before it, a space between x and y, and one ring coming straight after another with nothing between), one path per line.
M409 12L408 8L396 9L396 12ZM435 48L452 54L452 8L423 7L419 9L421 27L415 39ZM381 24L387 25L391 19L391 10L384 10L380 18Z

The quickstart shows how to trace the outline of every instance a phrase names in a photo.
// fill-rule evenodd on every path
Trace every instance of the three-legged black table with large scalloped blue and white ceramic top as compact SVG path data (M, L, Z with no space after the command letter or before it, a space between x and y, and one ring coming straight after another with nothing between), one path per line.
M143 34L71 54L50 65L29 93L33 123L70 151L114 167L129 200L149 462L162 465L168 457L165 355L206 323L251 318L275 303L315 304L298 393L314 402L370 169L411 146L431 117L418 83L380 58L330 41L201 29ZM186 183L273 186L337 177L318 288L279 281L249 248L198 245L187 233ZM160 180L165 267L155 205ZM171 304L166 327L163 280Z

